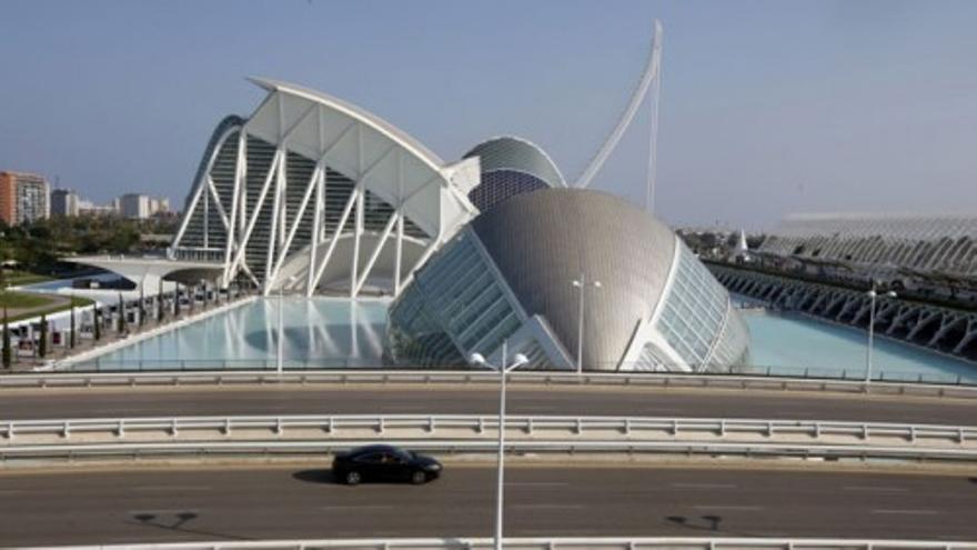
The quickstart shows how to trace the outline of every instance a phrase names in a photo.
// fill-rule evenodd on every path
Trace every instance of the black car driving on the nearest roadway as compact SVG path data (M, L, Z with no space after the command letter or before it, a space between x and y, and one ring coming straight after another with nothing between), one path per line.
M441 474L441 462L389 444L371 444L340 452L332 461L333 478L355 486L361 481L426 483Z

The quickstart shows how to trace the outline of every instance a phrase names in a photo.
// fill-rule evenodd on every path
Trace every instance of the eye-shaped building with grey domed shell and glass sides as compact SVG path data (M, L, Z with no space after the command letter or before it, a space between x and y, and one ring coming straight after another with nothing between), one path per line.
M584 292L582 296L581 292ZM508 198L444 246L390 310L387 358L451 367L524 353L535 368L729 371L748 329L682 240L614 196Z

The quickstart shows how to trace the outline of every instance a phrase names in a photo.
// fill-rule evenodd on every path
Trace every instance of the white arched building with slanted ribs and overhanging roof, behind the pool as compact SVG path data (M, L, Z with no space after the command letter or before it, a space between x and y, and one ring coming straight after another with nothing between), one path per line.
M322 92L252 78L268 96L219 128L171 258L222 264L264 293L393 294L477 213L479 161L452 166L384 120Z

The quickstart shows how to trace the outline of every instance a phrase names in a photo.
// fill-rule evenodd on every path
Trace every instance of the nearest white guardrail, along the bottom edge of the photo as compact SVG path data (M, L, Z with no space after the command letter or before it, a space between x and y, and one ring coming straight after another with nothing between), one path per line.
M774 539L774 538L505 538L506 550L975 550L977 542L884 539ZM37 547L33 550L40 550ZM228 542L164 542L43 547L47 550L488 550L488 538L450 539L336 539ZM27 549L31 550L31 549Z

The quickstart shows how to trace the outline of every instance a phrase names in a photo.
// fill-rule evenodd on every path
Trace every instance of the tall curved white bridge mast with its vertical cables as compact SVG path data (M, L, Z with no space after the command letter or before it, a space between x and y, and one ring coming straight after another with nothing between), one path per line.
M614 151L614 148L617 147L617 142L621 141L621 137L624 136L627 127L631 126L631 121L634 120L634 116L637 113L638 107L641 107L645 97L648 93L648 89L651 88L652 81L656 81L655 83L655 98L652 110L652 144L651 148L653 150L652 158L648 160L649 166L655 162L654 157L656 153L654 150L656 149L657 141L657 116L658 116L658 98L657 93L661 89L661 62L662 62L662 34L663 28L662 22L659 20L655 20L655 37L652 40L652 51L648 56L648 63L645 67L645 72L642 74L641 80L638 81L637 88L635 88L634 93L631 96L631 101L627 103L627 108L624 110L624 113L621 116L621 120L617 121L617 126L614 127L614 130L607 136L607 139L601 146L601 149L597 150L597 153L591 160L590 164L587 164L586 169L581 173L580 178L577 178L574 187L585 188L591 184L591 180L594 179L594 176L601 170L601 167L604 166L604 161L607 160L607 157ZM646 207L652 208L652 191L654 186L654 171L649 170L648 176L648 188L649 190L646 192Z

